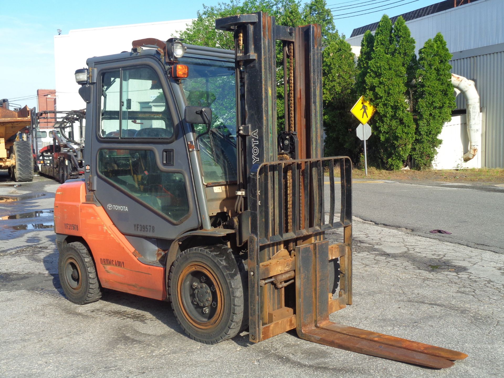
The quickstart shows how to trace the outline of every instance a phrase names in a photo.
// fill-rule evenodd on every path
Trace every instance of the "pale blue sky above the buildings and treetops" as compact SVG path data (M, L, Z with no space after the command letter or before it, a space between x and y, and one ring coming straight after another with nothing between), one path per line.
M202 4L217 5L226 0L73 0L20 1L3 5L0 10L0 98L12 103L36 106L38 88L54 88L53 36L57 29L140 24L195 18ZM440 0L326 0L340 33L350 36L356 27L379 21L383 13L395 16ZM398 2L397 4L392 4ZM410 3L411 4L406 4ZM301 3L306 3L301 0ZM381 4L379 4L381 3ZM405 5L401 5L405 4ZM354 8L359 5L366 5ZM399 7L386 10L389 7ZM362 12L362 10L365 10ZM377 11L374 13L369 13ZM354 13L356 12L356 13ZM347 15L341 15L346 13ZM355 17L354 17L355 16ZM31 98L30 98L31 97ZM18 98L18 100L16 100Z

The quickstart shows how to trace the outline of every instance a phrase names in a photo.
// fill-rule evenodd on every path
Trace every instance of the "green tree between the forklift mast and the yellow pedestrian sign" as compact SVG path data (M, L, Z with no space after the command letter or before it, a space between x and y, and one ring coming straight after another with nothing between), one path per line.
M324 106L324 153L348 155L358 161L360 141L355 137L357 122L350 113L355 102L355 55L338 32L327 38L322 61L322 99Z

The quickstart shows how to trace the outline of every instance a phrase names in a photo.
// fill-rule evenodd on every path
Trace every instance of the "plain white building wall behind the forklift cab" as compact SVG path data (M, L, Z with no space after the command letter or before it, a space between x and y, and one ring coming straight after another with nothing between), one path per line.
M79 96L79 85L74 73L86 68L86 60L93 56L130 51L132 41L157 38L162 41L177 36L192 19L153 22L147 24L107 26L93 29L70 30L54 36L54 61L57 110L77 110L86 107Z

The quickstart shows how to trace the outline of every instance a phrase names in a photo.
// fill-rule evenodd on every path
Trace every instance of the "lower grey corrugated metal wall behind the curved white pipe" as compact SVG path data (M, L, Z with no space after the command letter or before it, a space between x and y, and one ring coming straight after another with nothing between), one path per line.
M452 73L475 80L484 110L485 166L504 168L504 51L451 61ZM465 109L463 95L457 108Z

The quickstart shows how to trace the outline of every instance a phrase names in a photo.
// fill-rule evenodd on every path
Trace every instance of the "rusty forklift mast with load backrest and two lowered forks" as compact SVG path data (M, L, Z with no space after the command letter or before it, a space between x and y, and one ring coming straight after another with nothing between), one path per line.
M260 12L216 20L216 29L234 33L235 222L238 244L248 241L250 341L296 328L305 340L424 366L449 367L465 358L464 353L329 321L329 313L352 304L352 166L348 157L322 157L321 27L280 26ZM277 40L285 94L285 130L278 138ZM338 221L335 168L341 188ZM329 245L325 232L341 228L343 240Z

